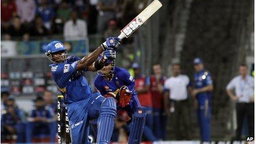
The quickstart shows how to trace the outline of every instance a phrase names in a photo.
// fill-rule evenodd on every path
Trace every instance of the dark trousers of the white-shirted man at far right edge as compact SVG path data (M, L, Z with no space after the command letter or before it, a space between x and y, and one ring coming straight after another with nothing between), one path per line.
M241 140L242 128L245 118L248 119L249 136L254 137L254 103L237 103L237 130L236 140Z

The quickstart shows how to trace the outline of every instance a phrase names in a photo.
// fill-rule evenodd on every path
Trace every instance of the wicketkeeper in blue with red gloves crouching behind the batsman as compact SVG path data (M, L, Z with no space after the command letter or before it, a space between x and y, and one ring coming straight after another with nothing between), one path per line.
M98 71L94 86L106 98L115 98L117 109L126 110L131 118L126 123L130 128L128 143L140 143L145 126L146 108L140 105L135 92L135 79L124 68L115 67L115 60ZM94 133L95 129L94 129Z

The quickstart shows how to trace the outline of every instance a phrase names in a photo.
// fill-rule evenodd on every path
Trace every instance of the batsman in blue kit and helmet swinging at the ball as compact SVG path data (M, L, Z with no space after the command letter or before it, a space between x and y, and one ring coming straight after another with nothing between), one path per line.
M82 72L102 69L109 58L114 58L115 49L119 45L119 38L109 37L95 51L82 59L76 56L67 57L66 47L60 41L52 41L46 47L45 54L52 62L52 76L64 96L73 144L90 143L88 121L97 118L97 142L110 143L116 117L115 99L93 93ZM102 53L103 56L99 57Z

